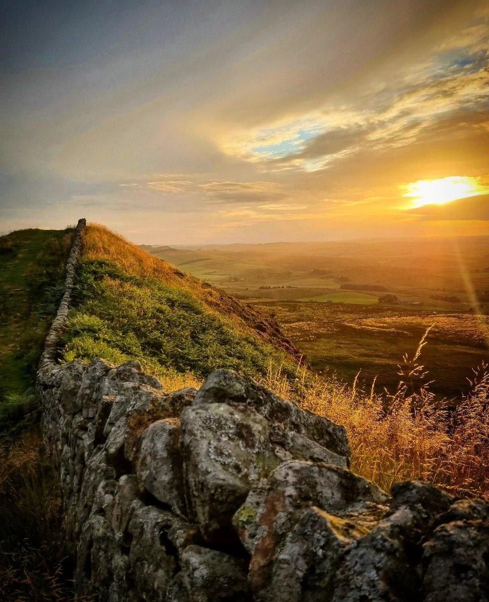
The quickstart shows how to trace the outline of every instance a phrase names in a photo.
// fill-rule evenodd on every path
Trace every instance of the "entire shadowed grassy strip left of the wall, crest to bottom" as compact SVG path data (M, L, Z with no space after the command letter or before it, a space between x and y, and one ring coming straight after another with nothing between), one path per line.
M64 291L72 230L0 238L0 600L67 601L58 476L43 452L34 379Z

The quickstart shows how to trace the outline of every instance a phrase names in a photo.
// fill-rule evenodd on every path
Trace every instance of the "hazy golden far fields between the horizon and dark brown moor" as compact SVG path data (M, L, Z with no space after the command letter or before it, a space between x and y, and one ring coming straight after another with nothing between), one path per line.
M351 293L379 287L382 293L372 292L373 297L390 293L402 305L463 312L471 310L472 293L478 291L482 309L489 310L489 301L483 301L489 299L484 297L489 291L489 237L145 249L241 297L328 300L330 294L348 292L351 285ZM354 297L343 302L355 303L350 299ZM363 297L360 302L371 300Z

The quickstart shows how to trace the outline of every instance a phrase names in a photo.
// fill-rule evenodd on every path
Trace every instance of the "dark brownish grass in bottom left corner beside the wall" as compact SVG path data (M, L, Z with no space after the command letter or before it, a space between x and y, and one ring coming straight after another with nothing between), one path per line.
M72 600L58 476L37 429L0 443L0 517L0 600Z

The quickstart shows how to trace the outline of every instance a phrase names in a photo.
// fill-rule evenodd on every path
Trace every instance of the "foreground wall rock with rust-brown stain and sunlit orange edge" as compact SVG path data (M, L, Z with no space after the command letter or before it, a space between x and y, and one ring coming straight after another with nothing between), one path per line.
M386 512L386 499L373 483L344 468L304 461L280 465L235 515L251 554L256 599L276 600L285 588L291 602L315 600L316 592L321 599L332 588L340 556L368 533L367 515L378 519ZM312 579L304 579L307 575Z

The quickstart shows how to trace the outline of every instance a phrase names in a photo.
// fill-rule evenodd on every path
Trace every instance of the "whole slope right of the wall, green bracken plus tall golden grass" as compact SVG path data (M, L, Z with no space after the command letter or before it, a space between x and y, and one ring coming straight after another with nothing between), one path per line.
M91 225L85 234L77 291L62 361L137 358L167 389L200 382L217 367L235 368L344 424L352 469L383 488L417 477L460 495L487 494L489 376L484 370L455 411L434 399L421 365L423 344L402 363L390 394L377 393L375 386L364 391L358 379L347 386L317 376L298 365L297 352L272 318L267 321L102 226ZM298 328L315 329L306 312L301 320ZM423 332L417 332L418 340Z

